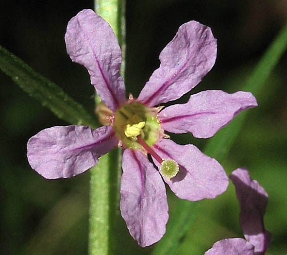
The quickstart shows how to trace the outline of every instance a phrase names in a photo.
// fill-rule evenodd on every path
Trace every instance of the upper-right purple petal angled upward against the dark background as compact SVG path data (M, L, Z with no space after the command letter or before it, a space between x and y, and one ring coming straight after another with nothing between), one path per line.
M209 27L197 21L181 25L160 53L160 67L152 73L138 101L154 106L180 98L213 67L216 52L216 39Z

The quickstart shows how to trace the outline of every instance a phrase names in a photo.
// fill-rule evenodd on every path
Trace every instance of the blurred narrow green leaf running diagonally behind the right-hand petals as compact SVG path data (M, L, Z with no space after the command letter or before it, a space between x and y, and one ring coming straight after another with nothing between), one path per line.
M277 38L270 45L269 49L263 55L254 69L253 75L248 82L241 88L244 91L250 91L256 97L264 88L270 72L278 63L280 57L286 51L287 47L287 26L278 34ZM222 161L231 149L236 136L239 134L240 128L246 118L248 112L239 114L230 124L221 129L214 137L212 137L204 150L204 153L217 160ZM154 255L159 254L177 254L180 246L180 239L184 238L187 230L192 225L194 219L201 210L193 211L194 203L179 201L173 216L170 217L167 225L167 233L158 242L153 250Z

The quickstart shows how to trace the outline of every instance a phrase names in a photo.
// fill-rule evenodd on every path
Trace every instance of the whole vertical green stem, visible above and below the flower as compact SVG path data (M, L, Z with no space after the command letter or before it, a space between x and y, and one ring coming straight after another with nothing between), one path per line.
M121 75L124 74L125 55L125 1L95 1L96 12L113 28L122 49ZM102 156L91 169L89 254L117 254L120 245L119 187L122 150L113 150Z

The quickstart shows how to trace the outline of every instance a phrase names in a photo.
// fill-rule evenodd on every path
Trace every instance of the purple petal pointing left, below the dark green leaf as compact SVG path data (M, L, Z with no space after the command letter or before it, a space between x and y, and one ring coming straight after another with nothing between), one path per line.
M96 130L86 126L43 129L27 143L31 167L47 179L69 178L98 163L101 155L118 144L112 127Z

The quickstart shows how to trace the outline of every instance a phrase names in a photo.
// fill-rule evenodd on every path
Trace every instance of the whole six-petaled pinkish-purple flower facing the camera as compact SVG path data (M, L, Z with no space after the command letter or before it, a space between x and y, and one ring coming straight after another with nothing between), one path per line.
M190 91L215 63L216 39L209 27L197 21L179 28L160 53L160 67L137 99L125 98L119 74L120 47L104 19L92 10L79 12L68 22L65 41L70 58L87 68L91 84L105 104L98 112L106 126L96 130L76 125L44 129L29 139L28 161L45 178L68 178L122 146L121 215L139 245L151 245L162 238L169 218L162 178L179 198L190 201L215 198L228 186L215 159L194 145L174 143L164 130L207 138L242 110L256 106L256 100L249 92L207 90L192 95L185 104L164 110L155 107Z

